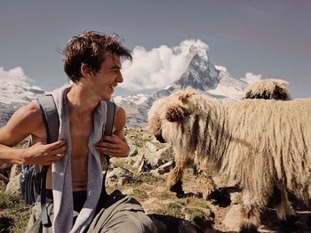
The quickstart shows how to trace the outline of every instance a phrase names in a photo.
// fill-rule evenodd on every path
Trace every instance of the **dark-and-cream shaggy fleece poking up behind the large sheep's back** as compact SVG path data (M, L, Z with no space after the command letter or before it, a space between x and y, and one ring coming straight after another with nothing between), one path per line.
M245 99L291 100L288 82L282 79L260 80L245 88Z

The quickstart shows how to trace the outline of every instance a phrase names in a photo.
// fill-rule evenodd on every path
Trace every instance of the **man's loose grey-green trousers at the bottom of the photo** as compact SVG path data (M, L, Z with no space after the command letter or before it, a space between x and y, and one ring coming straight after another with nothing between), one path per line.
M32 207L26 232L52 233L52 227L44 228L42 226L40 208L40 204ZM52 204L48 205L47 212L52 222ZM73 214L74 218L77 214L76 212ZM91 232L155 233L156 226L144 213L138 201L115 191L105 198L100 198L95 217L87 230L87 233Z

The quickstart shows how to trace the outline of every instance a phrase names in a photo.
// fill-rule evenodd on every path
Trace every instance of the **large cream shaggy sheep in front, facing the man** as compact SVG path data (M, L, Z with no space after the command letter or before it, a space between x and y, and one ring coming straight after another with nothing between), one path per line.
M172 143L180 161L196 155L201 169L211 165L225 180L240 184L241 229L251 231L275 190L283 221L295 216L286 189L311 197L310 116L311 99L222 102L187 90L157 100L148 121L159 141Z

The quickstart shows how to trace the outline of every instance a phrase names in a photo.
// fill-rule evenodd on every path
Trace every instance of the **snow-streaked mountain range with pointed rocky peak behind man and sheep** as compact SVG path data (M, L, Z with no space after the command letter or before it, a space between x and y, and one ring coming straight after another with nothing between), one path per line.
M227 68L211 63L208 47L191 45L187 52L187 67L172 84L157 92L115 96L114 100L127 112L127 125L143 127L147 125L148 109L154 101L180 89L194 88L198 92L217 99L241 99L247 83L230 76ZM40 87L28 83L4 83L0 87L0 126L6 124L12 113L20 106L46 94Z

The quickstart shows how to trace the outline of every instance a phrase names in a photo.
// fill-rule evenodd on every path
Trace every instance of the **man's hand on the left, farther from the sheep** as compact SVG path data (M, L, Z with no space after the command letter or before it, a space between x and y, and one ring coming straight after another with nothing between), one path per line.
M25 149L21 159L27 165L51 165L65 155L65 141L55 141L44 145L37 142L35 145Z

